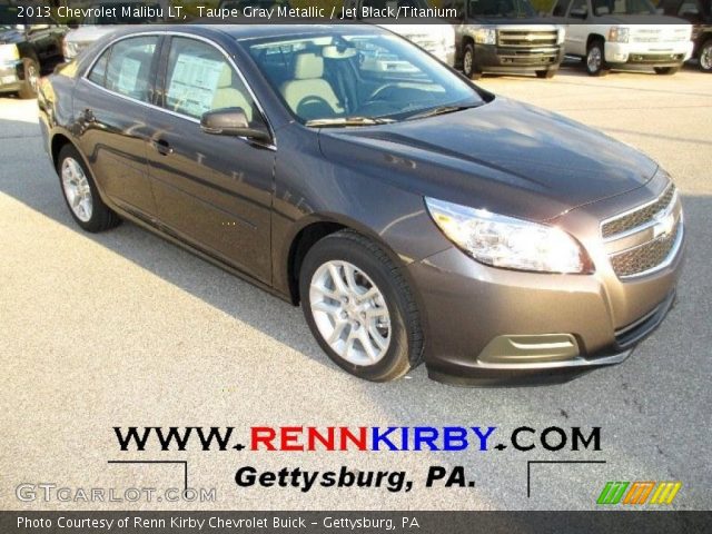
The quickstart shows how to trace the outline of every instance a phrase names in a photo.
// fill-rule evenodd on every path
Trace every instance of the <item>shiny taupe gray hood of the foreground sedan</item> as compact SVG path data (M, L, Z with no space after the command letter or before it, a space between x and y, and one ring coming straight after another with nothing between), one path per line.
M392 125L325 128L324 155L421 195L547 220L636 189L657 165L596 130L496 98Z

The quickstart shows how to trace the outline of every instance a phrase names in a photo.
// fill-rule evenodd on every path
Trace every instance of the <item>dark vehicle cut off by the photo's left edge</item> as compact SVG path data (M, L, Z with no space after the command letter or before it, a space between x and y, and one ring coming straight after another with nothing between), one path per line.
M1 20L17 20L13 7L0 6ZM62 39L68 28L60 24L0 24L0 93L34 98L42 72L61 61Z

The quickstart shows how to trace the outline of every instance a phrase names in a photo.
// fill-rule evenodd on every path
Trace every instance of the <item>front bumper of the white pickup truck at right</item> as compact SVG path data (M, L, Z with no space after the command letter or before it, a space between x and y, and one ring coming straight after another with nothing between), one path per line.
M692 57L692 41L685 42L610 42L605 43L605 60L612 65L652 65L675 67Z

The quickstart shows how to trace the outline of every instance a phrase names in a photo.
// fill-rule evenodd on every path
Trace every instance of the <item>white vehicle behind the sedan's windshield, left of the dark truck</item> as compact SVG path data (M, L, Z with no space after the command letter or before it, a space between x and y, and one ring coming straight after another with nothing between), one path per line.
M427 0L399 0L396 2L386 0L345 0L344 2L344 9L355 10L357 20L390 30L432 53L445 65L455 66L455 31L448 21L425 18L398 18L397 20L394 18L393 21L389 21L387 17L364 17L364 13L367 13L364 8L385 10L388 6L396 9L399 6L407 6L414 9L428 8Z

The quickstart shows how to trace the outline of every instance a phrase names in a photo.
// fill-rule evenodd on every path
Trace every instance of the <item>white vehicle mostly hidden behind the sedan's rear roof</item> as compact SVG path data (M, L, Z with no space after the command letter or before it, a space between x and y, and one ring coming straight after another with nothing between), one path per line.
M151 13L156 12L156 10L160 8L160 4L158 2L146 2L144 0L109 0L92 4L92 8L97 8L93 13L81 21L72 21L70 23L72 30L65 37L62 50L65 61L71 61L95 41L129 24L160 22L160 20L152 14L146 18L136 17L135 14L123 14L123 8L134 9L138 7L147 7L149 9L146 10L146 12ZM102 8L116 8L116 16L97 16L96 12Z

